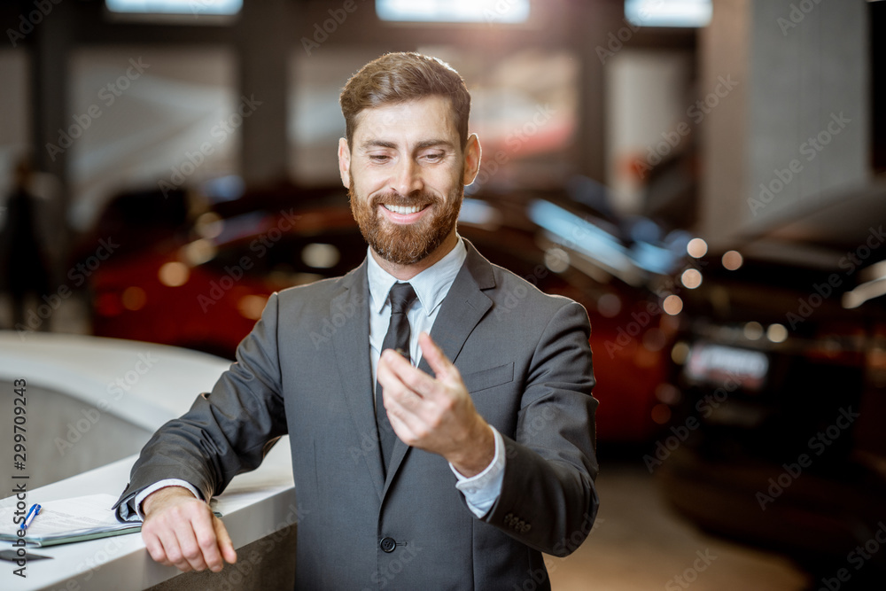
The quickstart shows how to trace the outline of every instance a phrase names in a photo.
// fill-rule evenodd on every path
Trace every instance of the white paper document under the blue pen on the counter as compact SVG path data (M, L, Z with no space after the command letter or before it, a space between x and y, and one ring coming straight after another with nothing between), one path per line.
M53 546L140 531L140 521L124 524L117 520L111 509L116 501L111 494L89 494L40 503L42 509L28 526L25 541ZM15 511L15 507L0 509L0 540L19 539L19 525L12 521Z

